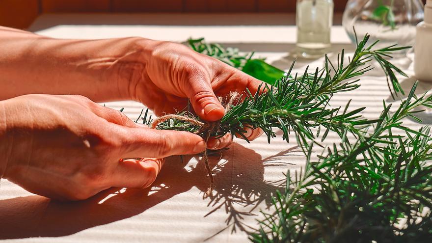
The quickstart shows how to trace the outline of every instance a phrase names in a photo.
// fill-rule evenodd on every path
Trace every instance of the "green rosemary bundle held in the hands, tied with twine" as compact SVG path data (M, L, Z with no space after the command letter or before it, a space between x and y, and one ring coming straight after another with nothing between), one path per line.
M204 131L205 134L201 131L201 127L178 119L168 119L158 124L156 128L189 131L199 133L203 137L207 133L216 137L227 133L233 136L236 134L243 136L245 127L261 128L267 135L269 142L272 137L276 136L273 128L279 128L283 131L284 139L289 141L289 134L293 132L297 141L305 147L307 147L308 141L315 137L314 128L318 129L317 135L320 134L321 128L325 129L323 139L329 131L334 131L341 137L345 137L347 133L351 133L355 137L363 136L367 125L377 123L379 120L362 118L359 113L364 108L349 111L350 103L345 108L328 108L328 102L332 95L358 88L359 80L353 80L353 78L371 70L372 67L368 63L373 59L383 67L395 93L403 92L395 73L406 76L403 71L391 64L385 57L390 57L392 52L407 47L391 46L373 50L377 42L367 46L368 40L369 35L366 35L361 41L357 41L357 48L352 57L349 58L348 63L344 62L345 54L342 51L338 55L337 65L325 57L324 69L317 68L315 72L308 73L308 68L306 68L302 75L295 74L292 77L295 63L293 62L286 77L275 81L272 86L266 84L260 87L261 91L267 92L251 94L247 91L242 94L243 102L231 105L229 111L216 124L215 128L211 131ZM216 44L214 44L216 46L210 45L209 48L207 47L209 44L202 43L202 40L199 40L199 43L194 50L212 56L237 60L237 57L233 57L234 54L225 52ZM209 50L212 52L209 53ZM188 111L184 111L182 115L199 120L198 117L194 117ZM150 123L149 121L146 122Z

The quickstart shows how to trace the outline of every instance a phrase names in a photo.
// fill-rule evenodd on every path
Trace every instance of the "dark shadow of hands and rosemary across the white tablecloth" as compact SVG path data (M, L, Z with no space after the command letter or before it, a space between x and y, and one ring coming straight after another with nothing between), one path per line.
M232 231L237 228L246 230L242 219L245 215L251 215L251 209L242 211L238 208L250 205L256 207L261 202L270 204L270 193L281 189L282 183L265 181L264 166L286 164L277 161L278 157L294 149L262 160L253 150L233 143L228 150L229 159L226 162L217 163L219 158L211 159L212 166L216 166L216 189L209 203L209 207L213 209L207 215L216 210L225 210L227 227L233 225ZM234 162L234 154L236 158L241 158L240 162L239 159ZM165 163L154 183L159 186L153 189L108 189L77 202L52 201L42 196L1 200L0 239L71 235L97 225L138 215L192 187L197 187L202 193L206 191L208 179L202 162L188 170L178 157L167 160L171 161ZM263 162L266 165L263 165Z

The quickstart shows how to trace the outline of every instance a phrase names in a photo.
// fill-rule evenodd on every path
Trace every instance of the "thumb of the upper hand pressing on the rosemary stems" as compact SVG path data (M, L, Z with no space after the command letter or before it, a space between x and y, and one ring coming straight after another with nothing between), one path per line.
M217 100L210 82L190 80L187 96L195 113L206 121L217 121L225 115L225 109Z

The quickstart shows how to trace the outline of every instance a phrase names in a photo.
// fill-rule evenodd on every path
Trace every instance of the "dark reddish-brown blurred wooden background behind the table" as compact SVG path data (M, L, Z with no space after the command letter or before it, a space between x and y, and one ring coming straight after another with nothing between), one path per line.
M347 0L334 0L342 13ZM0 25L27 28L43 13L287 13L296 0L0 0Z

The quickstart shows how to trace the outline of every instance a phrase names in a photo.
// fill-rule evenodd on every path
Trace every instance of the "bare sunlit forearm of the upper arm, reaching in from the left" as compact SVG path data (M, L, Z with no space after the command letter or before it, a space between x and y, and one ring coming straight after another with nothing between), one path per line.
M0 99L31 93L80 94L97 102L130 99L128 85L120 82L145 69L146 51L138 40L152 43L53 39L0 27Z

